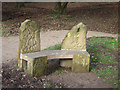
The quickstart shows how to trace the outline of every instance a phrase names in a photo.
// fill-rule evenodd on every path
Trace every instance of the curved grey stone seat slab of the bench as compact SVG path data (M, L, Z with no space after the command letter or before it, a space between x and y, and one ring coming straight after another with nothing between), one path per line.
M72 50L42 50L40 52L25 53L21 55L21 59L34 59L37 57L47 56L48 59L73 58L74 54L88 54L87 51L72 51Z

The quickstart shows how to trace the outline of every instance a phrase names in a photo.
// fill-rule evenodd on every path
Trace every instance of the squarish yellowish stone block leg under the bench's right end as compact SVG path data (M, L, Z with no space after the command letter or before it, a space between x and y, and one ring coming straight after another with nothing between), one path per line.
M90 55L76 54L72 60L73 72L89 72Z

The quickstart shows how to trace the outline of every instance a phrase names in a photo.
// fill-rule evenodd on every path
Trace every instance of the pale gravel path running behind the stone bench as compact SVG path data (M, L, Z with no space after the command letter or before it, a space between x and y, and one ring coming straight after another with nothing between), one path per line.
M53 46L55 44L61 43L67 33L68 33L68 30L41 32L40 33L41 50L49 46ZM95 32L95 31L88 31L87 38L93 37L93 36L115 37L117 35L109 34L109 33L102 33L102 32ZM3 38L0 37L0 43L2 43L2 53L0 53L0 56L2 54L3 63L6 63L14 59L17 60L19 37L18 36L3 37ZM0 51L1 51L1 48L0 48Z

